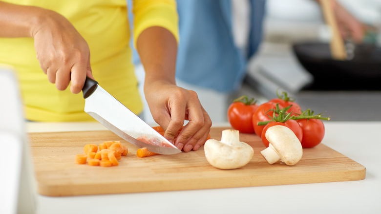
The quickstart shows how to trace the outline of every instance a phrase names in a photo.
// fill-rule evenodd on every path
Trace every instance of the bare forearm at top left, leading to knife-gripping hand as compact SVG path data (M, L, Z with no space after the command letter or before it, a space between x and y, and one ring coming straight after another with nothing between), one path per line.
M33 26L45 10L0 1L0 37L33 37Z

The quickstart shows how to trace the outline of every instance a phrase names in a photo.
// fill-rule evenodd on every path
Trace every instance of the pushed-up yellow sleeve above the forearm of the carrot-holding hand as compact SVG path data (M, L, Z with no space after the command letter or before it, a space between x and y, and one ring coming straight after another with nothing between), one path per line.
M179 42L178 15L175 0L132 0L134 15L133 42L148 27L160 26L169 30Z

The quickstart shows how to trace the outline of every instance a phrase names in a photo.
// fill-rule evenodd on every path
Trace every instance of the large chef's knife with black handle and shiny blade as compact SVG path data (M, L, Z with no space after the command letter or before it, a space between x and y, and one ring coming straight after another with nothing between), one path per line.
M181 152L155 129L99 86L97 81L86 77L82 92L85 98L85 112L121 138L140 148L146 147L149 151L159 154ZM162 145L148 144L136 139L144 136L147 136L148 139L158 140Z

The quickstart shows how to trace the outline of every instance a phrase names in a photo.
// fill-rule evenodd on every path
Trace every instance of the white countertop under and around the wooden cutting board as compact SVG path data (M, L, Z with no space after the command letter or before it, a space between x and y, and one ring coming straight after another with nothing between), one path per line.
M223 126L227 124L215 124ZM47 197L38 214L381 214L381 122L325 122L323 144L366 167L366 178L316 184ZM104 130L98 123L27 123L28 132ZM184 184L187 185L187 184Z

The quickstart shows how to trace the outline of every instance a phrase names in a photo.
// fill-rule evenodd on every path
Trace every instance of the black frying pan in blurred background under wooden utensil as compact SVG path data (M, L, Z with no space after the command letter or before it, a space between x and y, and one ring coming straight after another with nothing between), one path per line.
M299 63L313 75L304 90L381 90L381 47L356 44L350 60L335 60L329 43L294 43Z

